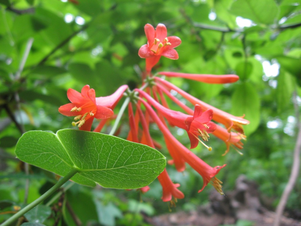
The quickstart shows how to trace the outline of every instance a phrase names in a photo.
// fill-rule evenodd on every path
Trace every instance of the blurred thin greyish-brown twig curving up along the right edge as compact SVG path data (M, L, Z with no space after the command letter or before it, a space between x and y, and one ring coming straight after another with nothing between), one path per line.
M281 223L281 216L283 214L284 208L287 203L288 196L290 195L291 191L293 190L293 187L296 183L299 168L300 168L300 149L301 149L301 123L299 119L299 106L297 105L296 101L296 92L293 93L293 99L294 99L294 108L295 108L295 114L296 114L296 120L297 120L297 129L299 130L296 140L296 146L294 149L294 156L293 156L293 165L292 170L290 173L290 179L287 182L287 185L281 195L279 204L276 209L276 217L274 221L274 226L279 226Z

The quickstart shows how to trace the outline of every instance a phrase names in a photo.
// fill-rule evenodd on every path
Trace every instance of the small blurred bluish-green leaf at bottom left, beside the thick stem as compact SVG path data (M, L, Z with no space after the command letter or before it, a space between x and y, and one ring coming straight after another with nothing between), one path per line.
M51 214L51 208L45 205L38 205L28 211L24 216L28 221L43 223Z

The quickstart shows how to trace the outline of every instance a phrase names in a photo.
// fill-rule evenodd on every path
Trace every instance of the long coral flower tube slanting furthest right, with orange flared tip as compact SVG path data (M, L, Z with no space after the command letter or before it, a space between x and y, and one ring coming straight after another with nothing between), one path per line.
M213 120L217 121L219 123L222 123L227 128L228 132L231 131L231 129L236 130L238 133L244 134L244 129L242 125L247 125L250 122L242 117L237 117L234 115L231 115L225 111L222 111L218 108L215 108L197 98L194 96L191 96L190 94L186 93L184 90L178 88L177 86L173 85L172 83L167 82L166 80L163 80L159 77L155 77L155 80L157 82L160 82L164 86L166 86L169 89L174 89L177 91L180 95L182 95L185 99L187 99L189 102L191 102L193 105L200 105L203 110L212 109L213 110Z

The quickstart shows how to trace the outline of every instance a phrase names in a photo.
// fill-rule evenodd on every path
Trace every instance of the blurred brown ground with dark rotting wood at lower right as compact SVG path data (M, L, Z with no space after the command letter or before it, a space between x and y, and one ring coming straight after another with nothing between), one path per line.
M231 193L221 196L214 191L209 199L208 205L195 211L146 217L145 220L154 226L235 225L238 220L252 221L252 226L273 225L275 212L261 204L256 184L247 181L244 176L237 179L236 188ZM283 216L281 226L301 226L301 221Z

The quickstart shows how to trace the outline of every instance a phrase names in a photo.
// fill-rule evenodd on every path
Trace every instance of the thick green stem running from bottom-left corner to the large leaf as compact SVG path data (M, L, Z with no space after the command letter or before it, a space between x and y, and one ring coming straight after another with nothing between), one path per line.
M42 201L44 201L48 196L54 193L58 188L60 188L63 184L65 184L71 177L73 177L78 172L79 171L77 169L72 169L72 171L70 171L65 177L59 180L53 187L51 187L48 191L46 191L42 196L40 196L38 199L36 199L32 203L30 203L29 205L21 209L19 212L17 212L16 214L8 218L4 223L0 224L0 226L8 226L12 224L14 221L16 221L18 218L23 216L29 210L33 209L35 206L37 206Z

